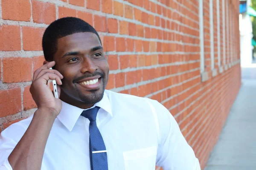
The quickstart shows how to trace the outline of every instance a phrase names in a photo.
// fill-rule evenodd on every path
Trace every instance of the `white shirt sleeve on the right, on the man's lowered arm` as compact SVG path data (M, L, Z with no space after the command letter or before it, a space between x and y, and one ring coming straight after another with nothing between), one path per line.
M156 100L151 100L158 119L158 167L164 170L201 170L192 147L186 142L172 114Z

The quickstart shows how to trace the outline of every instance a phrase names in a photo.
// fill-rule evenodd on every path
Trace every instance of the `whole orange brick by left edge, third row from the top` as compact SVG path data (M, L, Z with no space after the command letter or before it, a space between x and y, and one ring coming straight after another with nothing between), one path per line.
M3 82L32 80L32 58L3 58Z

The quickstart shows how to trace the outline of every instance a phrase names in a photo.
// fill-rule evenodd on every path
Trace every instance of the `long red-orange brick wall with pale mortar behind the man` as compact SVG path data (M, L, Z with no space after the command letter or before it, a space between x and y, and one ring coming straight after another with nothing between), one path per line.
M230 17L225 21L222 1L221 60L225 31L230 48L226 46L227 66L222 67L227 69L218 71L217 7L213 0L218 73L211 76L209 0L204 0L205 71L209 79L202 82L198 0L0 0L0 130L36 109L29 85L33 72L44 61L44 29L61 17L80 17L102 38L111 68L108 89L161 102L175 116L203 169L241 85L239 1L229 1ZM223 22L232 25L227 28L226 24L222 30ZM233 37L232 42L227 41L228 36Z

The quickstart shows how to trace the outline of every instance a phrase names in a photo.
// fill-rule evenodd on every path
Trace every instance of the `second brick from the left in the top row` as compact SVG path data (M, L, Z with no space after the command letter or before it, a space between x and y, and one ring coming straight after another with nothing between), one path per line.
M32 16L35 23L50 24L56 20L56 8L52 3L32 0Z

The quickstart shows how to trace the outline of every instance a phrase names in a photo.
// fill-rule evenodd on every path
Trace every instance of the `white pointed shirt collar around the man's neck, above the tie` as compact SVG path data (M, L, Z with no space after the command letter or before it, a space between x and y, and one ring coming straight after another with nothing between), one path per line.
M63 101L61 102L62 102L62 108L57 118L61 121L61 123L65 127L67 127L69 131L71 131L75 126L76 121L78 120L81 113L87 109L81 109L76 106L70 105L66 102L63 102ZM113 117L112 109L111 109L111 105L110 105L110 101L107 93L104 92L102 100L94 104L93 107L91 108L94 108L95 106L102 108L103 110L108 112L111 115L111 117Z

